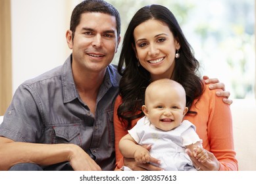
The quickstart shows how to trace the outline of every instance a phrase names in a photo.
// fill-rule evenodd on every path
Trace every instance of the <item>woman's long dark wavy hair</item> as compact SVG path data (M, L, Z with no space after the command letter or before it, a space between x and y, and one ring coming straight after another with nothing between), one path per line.
M193 55L193 49L186 40L174 14L161 5L149 5L141 8L133 16L122 44L122 51L118 62L120 80L120 96L122 104L117 114L126 129L130 128L132 120L144 116L141 106L144 104L145 89L150 83L150 74L142 66L138 67L138 60L132 45L134 42L134 29L141 23L154 19L164 22L180 43L180 58L175 59L175 68L172 79L180 83L186 91L186 106L189 110L193 100L203 93L203 82L197 76L199 62ZM196 113L191 112L189 113Z

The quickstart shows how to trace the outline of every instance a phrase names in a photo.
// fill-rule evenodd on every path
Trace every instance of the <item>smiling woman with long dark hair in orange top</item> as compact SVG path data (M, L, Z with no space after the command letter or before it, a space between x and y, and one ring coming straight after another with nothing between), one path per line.
M238 170L230 108L215 95L217 90L209 90L209 85L197 76L198 69L199 62L172 12L161 5L146 6L136 12L124 35L118 63L122 79L114 113L117 169L122 166L118 142L144 115L141 106L145 88L151 81L170 78L183 85L189 108L184 120L195 125L203 148L209 151L209 162L204 163L188 152L195 167Z

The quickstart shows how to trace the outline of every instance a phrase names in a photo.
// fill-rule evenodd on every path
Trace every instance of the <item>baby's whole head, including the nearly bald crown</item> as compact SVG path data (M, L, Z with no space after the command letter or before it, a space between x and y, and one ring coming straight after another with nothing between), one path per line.
M159 129L168 131L178 127L188 112L184 87L169 79L153 81L145 91L142 110Z

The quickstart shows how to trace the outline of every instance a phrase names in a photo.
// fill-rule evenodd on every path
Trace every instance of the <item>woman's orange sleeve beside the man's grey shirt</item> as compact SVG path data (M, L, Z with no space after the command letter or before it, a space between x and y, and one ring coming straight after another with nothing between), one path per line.
M117 108L122 103L122 98L118 95L115 102L115 108L114 108L114 128L115 128L115 152L116 152L116 168L115 170L120 170L120 168L124 165L122 154L119 150L118 143L124 135L128 133L126 129L122 126L120 120L117 116Z

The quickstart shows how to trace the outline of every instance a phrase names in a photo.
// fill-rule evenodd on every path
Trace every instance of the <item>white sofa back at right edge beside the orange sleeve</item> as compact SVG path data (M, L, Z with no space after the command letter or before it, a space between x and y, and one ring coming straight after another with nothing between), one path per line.
M234 100L230 109L239 170L256 171L256 103Z

